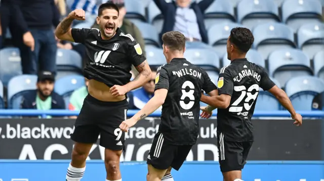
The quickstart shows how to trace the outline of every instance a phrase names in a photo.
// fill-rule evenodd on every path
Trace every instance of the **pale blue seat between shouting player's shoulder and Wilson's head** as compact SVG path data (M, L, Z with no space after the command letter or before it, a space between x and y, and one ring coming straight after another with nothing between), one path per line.
M161 66L167 64L162 48L145 47L147 62L150 66Z

